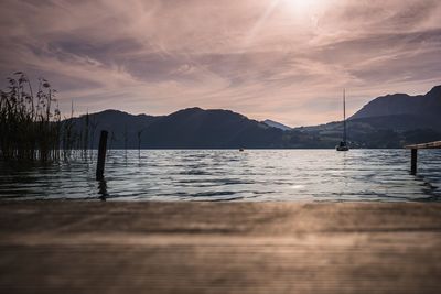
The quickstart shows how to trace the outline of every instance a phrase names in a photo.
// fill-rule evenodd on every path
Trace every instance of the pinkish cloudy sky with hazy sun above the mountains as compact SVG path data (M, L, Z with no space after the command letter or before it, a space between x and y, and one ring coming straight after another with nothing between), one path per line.
M0 78L64 113L230 109L310 126L441 84L439 0L1 0Z

